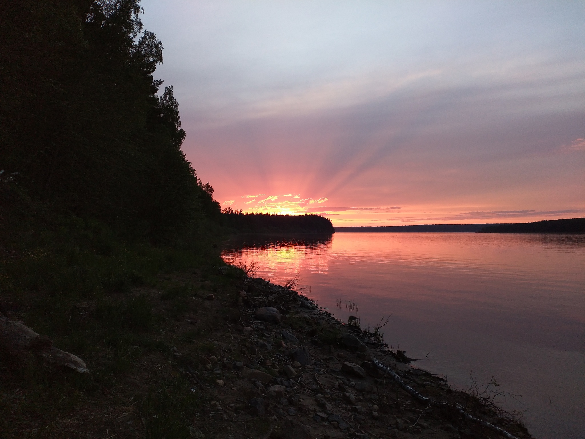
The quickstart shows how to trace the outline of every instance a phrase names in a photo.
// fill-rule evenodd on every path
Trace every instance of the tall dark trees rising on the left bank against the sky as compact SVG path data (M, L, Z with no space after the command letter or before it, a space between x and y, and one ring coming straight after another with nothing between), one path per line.
M168 241L218 217L181 151L163 45L139 0L0 5L0 169L27 197L128 236Z

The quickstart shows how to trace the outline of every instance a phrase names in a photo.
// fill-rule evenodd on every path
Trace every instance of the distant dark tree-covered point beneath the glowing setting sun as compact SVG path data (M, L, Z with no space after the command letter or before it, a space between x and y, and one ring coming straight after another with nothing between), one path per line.
M335 233L331 219L321 215L280 215L223 210L223 224L238 233Z

